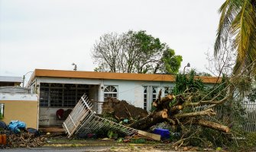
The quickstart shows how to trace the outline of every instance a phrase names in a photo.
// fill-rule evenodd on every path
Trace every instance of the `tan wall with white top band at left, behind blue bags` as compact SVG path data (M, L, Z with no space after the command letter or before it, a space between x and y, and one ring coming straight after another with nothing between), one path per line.
M5 104L4 121L25 122L27 128L38 128L38 100L36 94L0 93L0 103Z

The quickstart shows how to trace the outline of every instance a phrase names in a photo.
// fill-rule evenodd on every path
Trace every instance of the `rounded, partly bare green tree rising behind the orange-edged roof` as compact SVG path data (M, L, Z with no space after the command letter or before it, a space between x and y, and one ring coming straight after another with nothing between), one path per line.
M107 33L96 41L92 58L95 71L123 73L177 73L182 56L144 30Z

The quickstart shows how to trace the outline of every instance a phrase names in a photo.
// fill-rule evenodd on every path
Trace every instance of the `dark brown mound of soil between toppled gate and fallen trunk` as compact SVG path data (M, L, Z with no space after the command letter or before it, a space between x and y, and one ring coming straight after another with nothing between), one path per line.
M103 113L111 113L115 119L142 119L148 115L147 110L132 106L125 100L108 98L102 106Z

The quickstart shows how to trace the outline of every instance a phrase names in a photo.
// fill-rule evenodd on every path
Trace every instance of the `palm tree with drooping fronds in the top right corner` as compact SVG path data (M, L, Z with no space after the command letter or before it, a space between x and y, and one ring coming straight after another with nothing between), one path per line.
M232 45L237 53L233 74L245 69L256 74L256 0L225 0L219 13L215 55L223 45Z

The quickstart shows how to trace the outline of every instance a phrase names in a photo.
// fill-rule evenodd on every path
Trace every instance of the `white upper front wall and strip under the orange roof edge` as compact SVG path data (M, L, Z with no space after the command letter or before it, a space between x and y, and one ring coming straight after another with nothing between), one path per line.
M104 101L105 86L113 85L118 87L118 100L126 100L128 103L143 108L144 86L157 87L157 93L164 87L173 87L173 82L167 81L123 81L123 80L101 80L82 78L36 78L35 86L40 83L60 83L60 84L94 84L95 88L90 88L90 100ZM98 87L99 86L99 87ZM37 93L39 94L39 87ZM100 110L99 110L100 111Z

